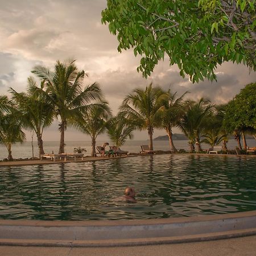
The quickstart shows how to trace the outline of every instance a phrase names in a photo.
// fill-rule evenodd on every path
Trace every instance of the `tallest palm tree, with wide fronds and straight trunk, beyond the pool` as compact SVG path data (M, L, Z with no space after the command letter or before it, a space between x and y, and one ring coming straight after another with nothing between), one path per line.
M60 148L59 154L64 152L64 134L67 125L73 125L73 121L81 116L94 100L101 100L100 87L94 83L85 86L82 90L85 72L78 71L75 60L59 60L55 64L54 72L38 65L33 70L40 79L45 80L45 88L49 102L55 106L55 115L60 117Z

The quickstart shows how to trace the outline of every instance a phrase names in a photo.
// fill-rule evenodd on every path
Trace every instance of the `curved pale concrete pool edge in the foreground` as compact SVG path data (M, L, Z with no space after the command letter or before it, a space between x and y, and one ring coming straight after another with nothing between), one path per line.
M154 220L0 220L0 245L16 246L158 245L255 234L256 210Z

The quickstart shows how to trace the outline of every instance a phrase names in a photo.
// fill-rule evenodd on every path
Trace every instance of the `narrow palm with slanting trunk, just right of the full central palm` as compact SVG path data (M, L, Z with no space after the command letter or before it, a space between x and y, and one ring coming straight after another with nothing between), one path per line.
M166 130L169 138L171 152L176 152L174 142L172 140L172 127L179 124L180 118L184 114L183 108L183 97L188 92L183 93L179 98L177 98L176 93L172 94L170 89L167 92L168 98L164 101L163 113L162 113L162 127Z

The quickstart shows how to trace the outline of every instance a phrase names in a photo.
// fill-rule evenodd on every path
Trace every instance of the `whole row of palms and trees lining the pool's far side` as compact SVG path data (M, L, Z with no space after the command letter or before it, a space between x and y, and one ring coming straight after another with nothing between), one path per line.
M44 154L42 135L46 127L59 119L60 148L64 152L64 134L68 126L75 127L92 139L91 155L95 155L96 139L107 133L115 146L122 146L133 131L146 130L150 150L153 150L155 128L166 130L170 151L177 152L172 141L172 129L177 127L188 138L191 152L201 152L201 143L211 147L222 143L226 150L229 135L233 135L240 150L246 150L245 134L256 139L256 82L246 85L226 105L216 105L207 99L185 99L152 84L136 88L128 94L115 116L105 100L100 85L84 86L86 73L79 71L75 60L57 61L51 71L36 66L28 78L26 92L10 88L11 98L0 96L0 144L13 160L11 146L22 143L24 129L34 130L38 139L39 156ZM241 145L241 138L243 147Z

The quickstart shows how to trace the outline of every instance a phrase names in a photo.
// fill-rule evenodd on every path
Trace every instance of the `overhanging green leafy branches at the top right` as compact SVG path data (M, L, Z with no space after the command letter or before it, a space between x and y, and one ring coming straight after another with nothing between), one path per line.
M216 79L224 61L255 70L255 0L108 0L102 23L117 34L118 51L134 48L150 76L164 56L193 82Z

